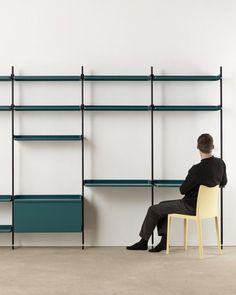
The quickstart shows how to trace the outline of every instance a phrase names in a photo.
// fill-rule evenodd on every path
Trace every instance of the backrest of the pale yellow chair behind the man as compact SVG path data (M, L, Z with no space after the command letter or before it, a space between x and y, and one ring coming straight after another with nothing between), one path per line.
M219 185L207 187L200 185L197 198L197 216L211 218L218 216Z

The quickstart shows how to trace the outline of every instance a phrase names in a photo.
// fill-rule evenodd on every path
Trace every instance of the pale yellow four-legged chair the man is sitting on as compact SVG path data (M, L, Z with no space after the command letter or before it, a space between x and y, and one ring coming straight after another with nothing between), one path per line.
M220 230L219 230L219 218L218 218L218 192L219 186L207 187L200 185L197 199L196 215L184 215L184 214L168 214L167 225L167 242L166 242L166 254L169 254L169 241L170 241L170 226L172 218L184 219L184 249L187 250L188 242L188 221L195 220L197 223L198 232L198 250L199 257L203 258L203 244L202 244L202 219L214 218L217 235L218 252L222 254L220 244Z

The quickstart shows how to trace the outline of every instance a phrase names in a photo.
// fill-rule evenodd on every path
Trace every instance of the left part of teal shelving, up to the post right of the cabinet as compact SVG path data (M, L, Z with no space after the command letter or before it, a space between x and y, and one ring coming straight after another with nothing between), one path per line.
M10 111L12 115L12 192L11 195L0 195L0 202L11 202L12 224L0 225L1 233L12 234L12 249L15 245L15 233L50 233L70 232L82 233L82 248L84 248L84 195L16 195L15 194L15 141L80 141L84 144L84 130L79 135L16 135L14 132L14 115L16 111L33 112L83 112L83 90L81 103L78 105L15 105L15 82L79 82L82 75L77 76L15 76L14 67L10 76L0 76L0 81L11 83L11 105L1 105L0 111ZM37 114L36 114L37 115ZM82 118L83 120L83 118ZM58 143L59 144L59 143ZM68 143L69 144L69 143ZM82 153L82 162L84 155ZM84 167L81 167L84 169ZM83 171L82 171L83 175ZM79 179L83 184L83 180Z

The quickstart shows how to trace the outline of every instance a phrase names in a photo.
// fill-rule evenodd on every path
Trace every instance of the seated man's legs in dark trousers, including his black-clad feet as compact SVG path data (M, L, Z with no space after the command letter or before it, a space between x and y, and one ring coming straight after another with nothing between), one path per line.
M183 200L164 201L157 205L150 206L140 231L142 238L138 243L127 247L128 250L147 250L147 244L154 228L157 226L158 234L162 236L161 242L151 252L165 250L167 216L170 213L195 214L193 208L189 208Z

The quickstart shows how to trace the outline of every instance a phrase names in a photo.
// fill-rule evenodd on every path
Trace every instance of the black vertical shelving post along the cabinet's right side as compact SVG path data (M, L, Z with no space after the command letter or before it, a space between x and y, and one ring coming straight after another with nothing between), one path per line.
M82 129L82 249L84 249L84 67L81 67L81 129Z

